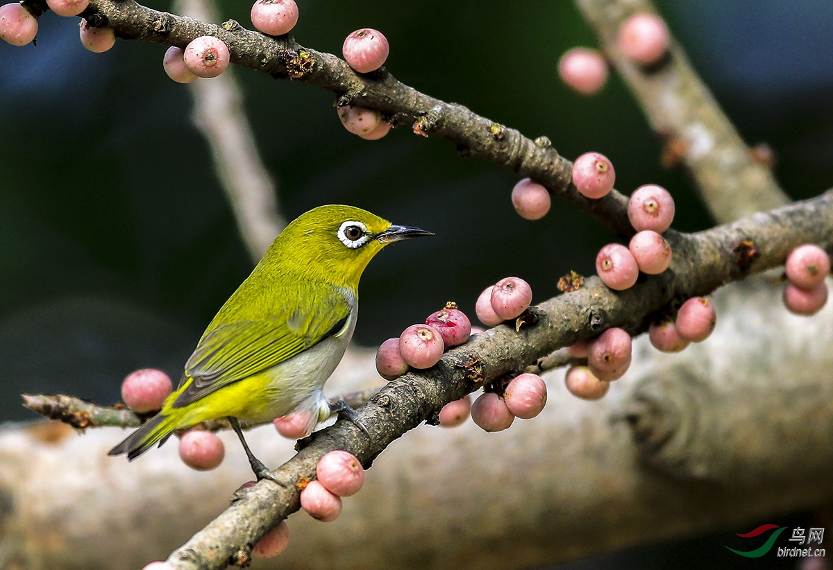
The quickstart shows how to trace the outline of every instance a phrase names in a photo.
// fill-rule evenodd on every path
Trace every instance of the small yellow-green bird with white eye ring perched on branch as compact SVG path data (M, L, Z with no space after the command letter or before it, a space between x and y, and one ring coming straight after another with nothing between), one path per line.
M346 411L322 390L356 326L359 278L385 245L419 235L433 234L353 206L299 216L222 305L162 411L109 454L133 459L175 429L227 417L257 478L277 481L248 448L237 419L305 411L322 421Z

